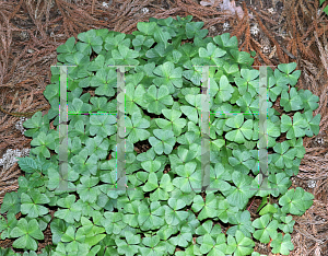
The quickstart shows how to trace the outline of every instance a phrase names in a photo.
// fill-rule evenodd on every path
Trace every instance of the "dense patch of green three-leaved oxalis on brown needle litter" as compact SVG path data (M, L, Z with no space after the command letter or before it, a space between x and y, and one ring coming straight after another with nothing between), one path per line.
M4 196L1 240L36 255L49 224L52 244L40 255L259 256L256 241L270 243L273 254L293 251L292 216L302 216L314 196L289 189L290 177L305 154L302 138L319 131L320 115L313 116L318 97L295 88L296 63L267 68L269 189L261 189L259 70L249 54L238 50L235 36L206 37L203 23L191 20L150 19L131 35L91 30L57 48L57 65L72 66L67 69L68 175L59 173L60 70L51 67L51 84L44 91L51 108L24 123L32 150L19 159L25 176L17 191ZM121 131L114 66L133 66L124 73L129 189L116 189L116 136ZM211 66L207 187L200 66ZM278 98L281 112L272 107ZM282 136L285 140L278 142ZM140 144L149 149L137 152ZM67 190L58 189L62 179ZM260 217L251 221L248 206L256 198L262 200ZM1 255L19 254L2 248Z

